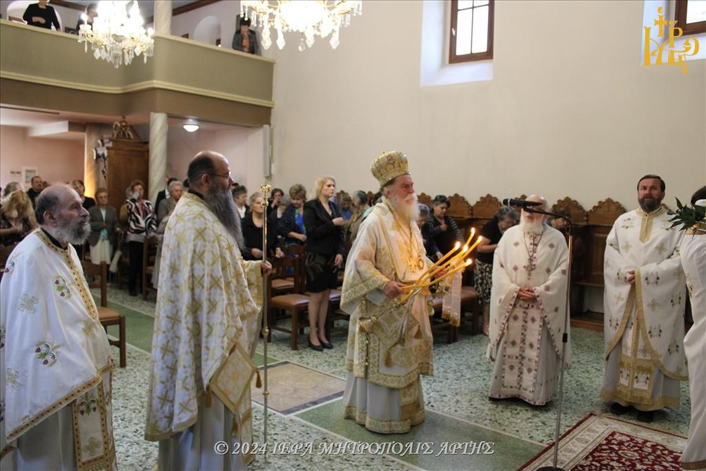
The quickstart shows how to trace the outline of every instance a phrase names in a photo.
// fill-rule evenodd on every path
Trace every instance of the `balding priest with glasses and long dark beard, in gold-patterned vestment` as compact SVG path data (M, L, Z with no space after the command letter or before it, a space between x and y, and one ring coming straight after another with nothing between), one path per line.
M160 470L244 469L254 458L241 445L252 441L251 355L271 267L241 257L226 158L199 153L187 176L164 232L145 439L160 442Z

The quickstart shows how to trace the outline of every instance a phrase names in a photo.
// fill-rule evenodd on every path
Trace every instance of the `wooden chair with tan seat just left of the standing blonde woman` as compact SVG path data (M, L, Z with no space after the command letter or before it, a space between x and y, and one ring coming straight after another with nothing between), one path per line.
M291 335L289 345L292 347L292 350L297 350L299 331L304 330L304 327L307 326L307 323L299 323L299 318L301 317L301 314L309 311L309 297L302 294L304 290L304 285L301 283L304 275L304 258L301 256L295 256L280 258L280 260L285 270L287 270L287 268L291 268L294 272L295 292L273 296L272 280L268 277L268 282L265 285L268 299L270 300L268 306L269 309L267 312L268 324L270 325L270 330L289 333L289 335ZM299 292L297 292L297 290L299 290ZM288 315L275 317L273 315L275 310L284 311ZM277 326L277 321L287 317L292 321L291 328ZM270 338L267 340L269 342Z

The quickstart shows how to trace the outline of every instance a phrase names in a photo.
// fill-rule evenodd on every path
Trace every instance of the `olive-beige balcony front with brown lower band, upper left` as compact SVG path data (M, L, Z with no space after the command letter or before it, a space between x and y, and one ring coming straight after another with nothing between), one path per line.
M164 112L246 126L270 123L275 61L155 35L129 66L88 53L76 35L0 20L0 102L92 114Z

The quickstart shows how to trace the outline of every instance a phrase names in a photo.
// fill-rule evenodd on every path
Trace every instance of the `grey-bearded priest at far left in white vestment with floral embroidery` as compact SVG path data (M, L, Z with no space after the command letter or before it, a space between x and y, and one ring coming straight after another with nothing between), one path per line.
M108 338L76 250L88 211L69 186L37 198L40 228L0 283L1 468L114 470Z

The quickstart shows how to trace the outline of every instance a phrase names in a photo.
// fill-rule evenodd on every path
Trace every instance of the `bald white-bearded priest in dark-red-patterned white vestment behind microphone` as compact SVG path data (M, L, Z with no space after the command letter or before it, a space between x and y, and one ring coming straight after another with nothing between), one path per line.
M542 196L528 201L542 203ZM566 316L568 248L546 217L522 211L493 257L488 358L495 359L489 396L551 401L558 386ZM568 334L568 333L567 333ZM566 348L568 366L570 345Z

